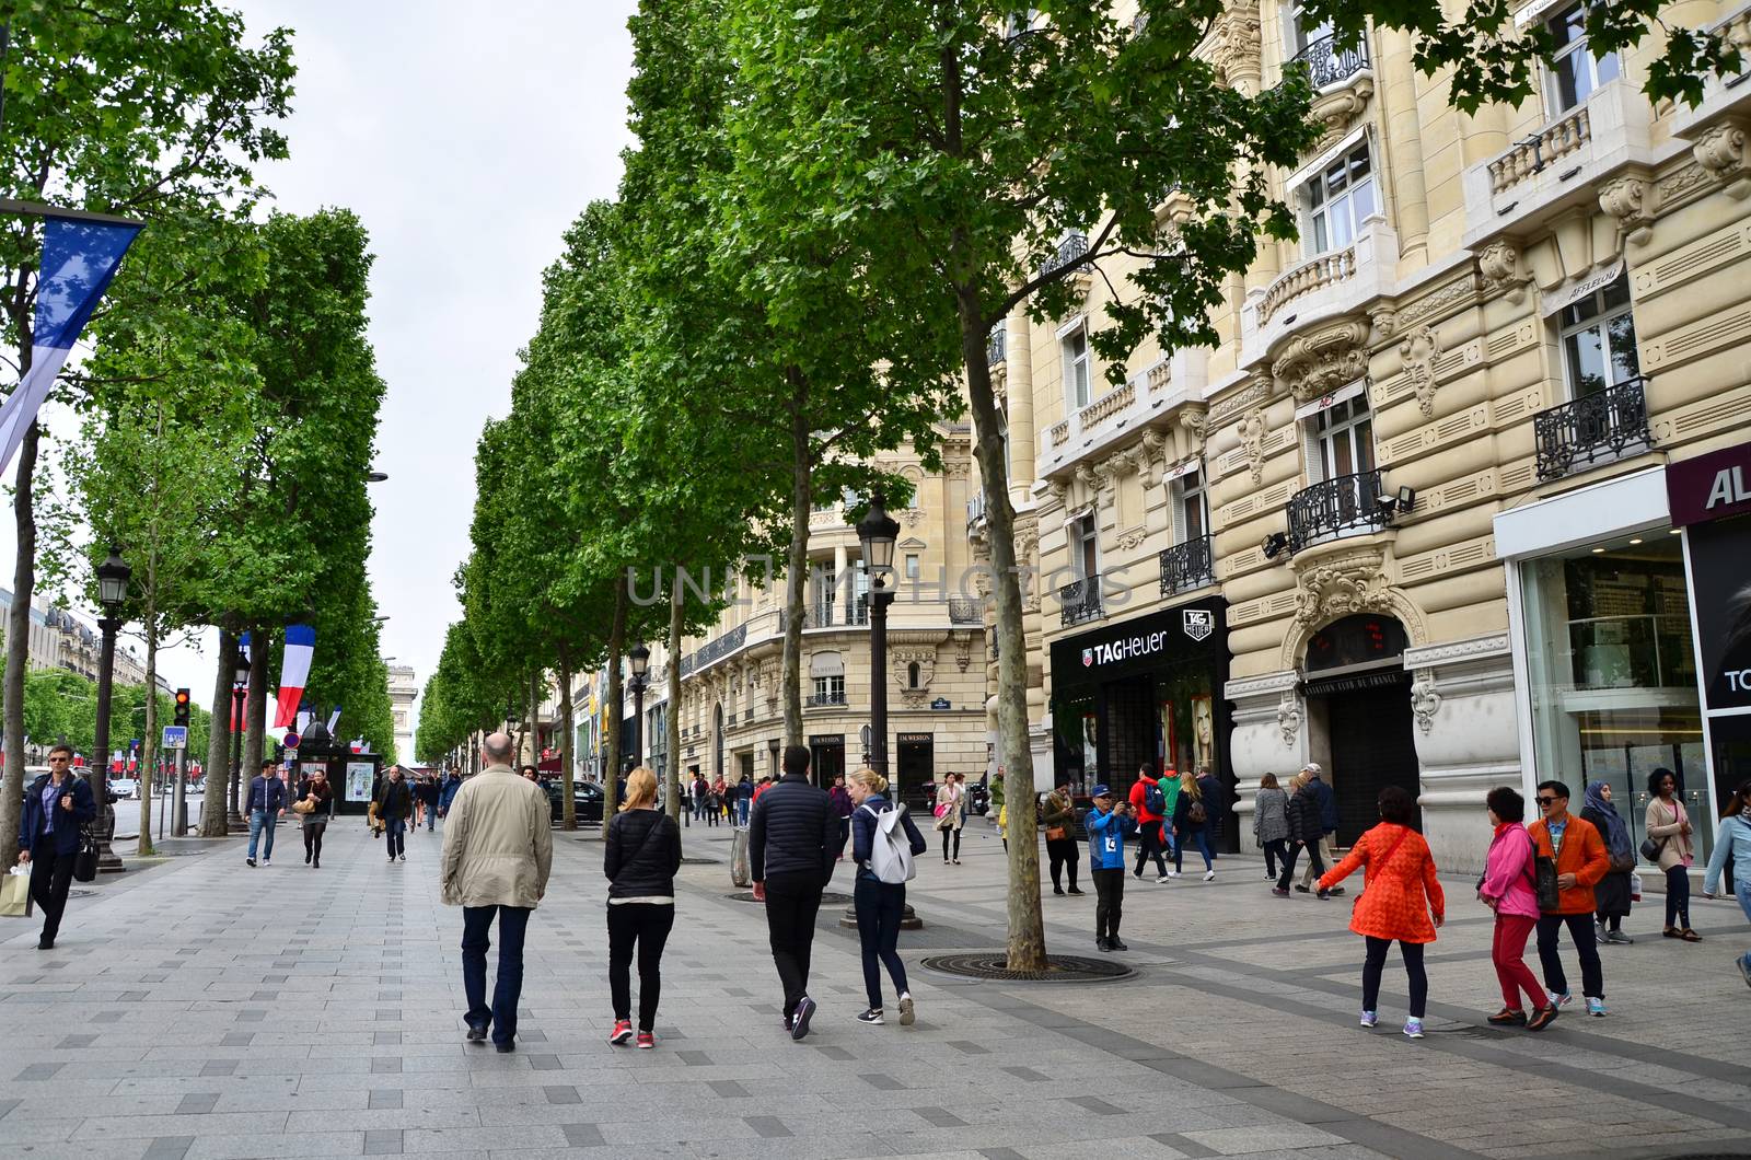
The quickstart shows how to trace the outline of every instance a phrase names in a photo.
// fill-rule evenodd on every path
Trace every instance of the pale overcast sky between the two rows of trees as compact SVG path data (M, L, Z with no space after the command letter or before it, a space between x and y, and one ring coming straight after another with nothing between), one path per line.
M620 180L634 0L228 0L256 42L294 30L291 159L257 170L287 212L352 209L371 237L371 343L389 391L371 499L383 654L420 685L461 615L475 442L510 410L560 233ZM489 14L490 12L490 14ZM54 424L60 428L61 424ZM53 454L53 452L51 452ZM12 520L0 520L12 559ZM11 587L11 568L0 580ZM88 619L95 613L86 612ZM133 641L140 648L138 641ZM159 654L212 697L217 633ZM315 666L322 664L317 641ZM343 725L345 729L345 725ZM406 757L406 755L403 755Z

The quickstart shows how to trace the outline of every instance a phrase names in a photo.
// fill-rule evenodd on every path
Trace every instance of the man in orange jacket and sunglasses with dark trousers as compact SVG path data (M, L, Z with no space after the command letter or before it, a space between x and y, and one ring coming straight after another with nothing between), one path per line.
M1537 806L1543 818L1527 827L1537 852L1557 864L1557 913L1539 915L1537 958L1544 967L1550 1001L1569 1004L1569 978L1562 973L1557 937L1567 923L1574 950L1581 955L1581 995L1586 1013L1606 1013L1606 969L1599 962L1599 936L1593 932L1593 883L1611 869L1611 855L1592 822L1569 813L1569 787L1539 782Z

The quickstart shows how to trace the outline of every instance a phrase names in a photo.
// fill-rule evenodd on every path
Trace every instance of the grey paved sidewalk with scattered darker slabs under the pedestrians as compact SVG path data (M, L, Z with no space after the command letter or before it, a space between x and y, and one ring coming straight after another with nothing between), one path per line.
M529 927L515 1055L462 1043L461 915L438 902L436 836L390 866L359 825L324 867L282 829L271 867L242 843L168 859L68 908L54 951L0 920L0 1148L35 1160L231 1156L1670 1156L1751 1155L1751 1039L1730 965L1735 906L1698 899L1700 946L1607 946L1611 1016L1495 1032L1487 911L1448 881L1431 1034L1355 1027L1348 908L1269 897L1255 859L1213 883L1128 880L1112 985L993 985L916 967L996 946L1003 860L975 822L965 864L926 855L902 939L916 1027L863 1027L854 932L823 909L814 1029L779 1027L760 909L727 895L728 831L683 831L679 922L658 1050L611 1023L601 845L555 834ZM1086 859L1084 859L1086 864ZM1359 883L1352 883L1352 888ZM849 867L833 888L849 892ZM1045 897L1054 950L1093 951L1093 894ZM1572 951L1569 955L1572 964ZM891 1002L891 999L890 999Z

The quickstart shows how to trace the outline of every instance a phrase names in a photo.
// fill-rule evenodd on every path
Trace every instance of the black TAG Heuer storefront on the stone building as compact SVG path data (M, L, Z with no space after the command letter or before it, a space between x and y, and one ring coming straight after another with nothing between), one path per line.
M1101 624L1052 643L1056 767L1087 792L1129 792L1145 760L1233 785L1227 769L1227 601ZM1233 827L1233 822L1229 822ZM1233 848L1227 836L1224 848Z

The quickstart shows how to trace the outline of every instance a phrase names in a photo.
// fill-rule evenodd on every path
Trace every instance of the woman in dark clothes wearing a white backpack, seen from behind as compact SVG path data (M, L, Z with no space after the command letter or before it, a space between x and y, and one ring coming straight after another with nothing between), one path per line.
M886 790L888 778L874 769L858 769L846 785L854 806L851 859L858 864L853 908L858 916L858 943L863 948L863 988L870 1001L858 1022L881 1027L881 967L886 965L900 999L900 1027L911 1027L912 992L905 987L905 964L900 960L900 918L905 915L905 881L914 871L912 859L921 855L928 843L912 825L905 806L895 806L883 797Z

